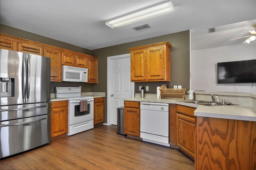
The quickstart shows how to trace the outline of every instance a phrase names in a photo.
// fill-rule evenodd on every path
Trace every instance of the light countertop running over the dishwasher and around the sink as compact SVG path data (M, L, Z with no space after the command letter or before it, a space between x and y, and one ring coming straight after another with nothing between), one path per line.
M168 104L180 104L183 106L189 106L196 108L194 115L210 118L224 118L233 120L246 120L256 122L256 108L252 106L242 105L225 105L225 106L201 106L198 104L191 104L181 102L178 99L157 99L157 98L125 98L125 101L137 101L137 102L157 102Z

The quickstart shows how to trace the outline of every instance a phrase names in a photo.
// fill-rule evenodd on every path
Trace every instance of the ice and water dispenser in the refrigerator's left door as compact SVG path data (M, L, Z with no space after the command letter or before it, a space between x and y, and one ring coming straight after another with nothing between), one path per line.
M14 96L14 78L0 78L1 93L0 97Z

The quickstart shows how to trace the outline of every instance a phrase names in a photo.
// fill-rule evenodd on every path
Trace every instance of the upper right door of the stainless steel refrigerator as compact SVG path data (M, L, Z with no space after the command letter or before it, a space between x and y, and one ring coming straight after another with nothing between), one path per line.
M26 103L50 101L50 58L27 54Z

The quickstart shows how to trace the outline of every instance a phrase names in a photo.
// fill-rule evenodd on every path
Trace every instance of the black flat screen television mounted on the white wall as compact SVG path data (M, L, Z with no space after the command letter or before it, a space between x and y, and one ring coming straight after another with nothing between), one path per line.
M218 84L255 83L256 60L218 62Z

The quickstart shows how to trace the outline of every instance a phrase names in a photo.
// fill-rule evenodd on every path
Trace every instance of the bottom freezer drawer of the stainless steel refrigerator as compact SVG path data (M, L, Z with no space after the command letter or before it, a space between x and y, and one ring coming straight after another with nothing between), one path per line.
M1 158L50 142L50 114L0 122Z

